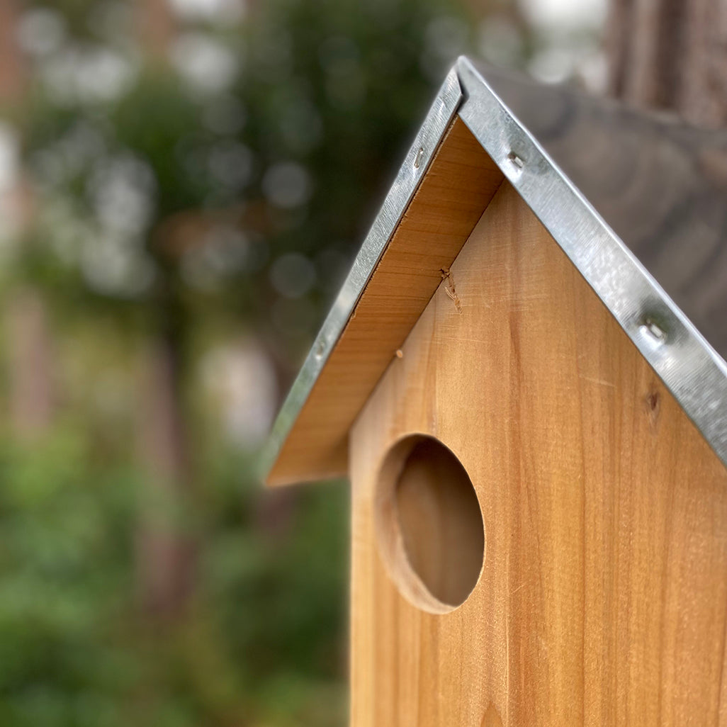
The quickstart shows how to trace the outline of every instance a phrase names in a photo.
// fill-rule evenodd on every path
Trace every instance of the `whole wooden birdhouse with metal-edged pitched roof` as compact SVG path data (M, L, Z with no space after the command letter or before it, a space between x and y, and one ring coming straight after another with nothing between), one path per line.
M633 254L723 353L727 139L488 79L270 444L272 485L350 477L351 723L727 725L727 366Z

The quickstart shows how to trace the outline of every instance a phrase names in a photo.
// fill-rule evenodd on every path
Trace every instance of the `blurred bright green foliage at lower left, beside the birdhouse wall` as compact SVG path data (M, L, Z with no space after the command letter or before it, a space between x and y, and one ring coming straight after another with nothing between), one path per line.
M183 618L154 622L135 590L139 473L99 461L73 429L4 441L1 724L343 722L345 488L294 494L277 537L257 483L241 483L249 463L218 455L195 523L196 593Z

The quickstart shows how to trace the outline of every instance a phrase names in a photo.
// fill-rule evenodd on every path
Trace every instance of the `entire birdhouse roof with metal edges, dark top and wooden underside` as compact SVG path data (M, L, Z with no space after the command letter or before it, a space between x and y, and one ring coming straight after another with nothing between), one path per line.
M724 352L727 319L713 312L724 308L727 265L715 270L713 262L727 255L727 134L491 75L590 202L460 59L276 421L268 483L347 472L350 425L504 179L727 462L727 366L611 229L651 262Z

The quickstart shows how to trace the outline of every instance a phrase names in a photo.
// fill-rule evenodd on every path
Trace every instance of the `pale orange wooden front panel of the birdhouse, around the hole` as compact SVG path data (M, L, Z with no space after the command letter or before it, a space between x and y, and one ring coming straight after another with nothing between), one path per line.
M350 438L353 727L727 725L727 471L509 185L401 350ZM377 547L379 465L409 433L457 455L483 513L446 614Z

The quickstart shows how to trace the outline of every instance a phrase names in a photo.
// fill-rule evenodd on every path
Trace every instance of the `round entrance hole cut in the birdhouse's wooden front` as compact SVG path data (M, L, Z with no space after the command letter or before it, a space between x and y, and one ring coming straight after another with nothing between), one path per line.
M446 613L465 602L485 557L480 504L452 451L409 435L386 455L376 502L379 550L414 605Z

